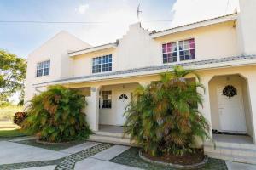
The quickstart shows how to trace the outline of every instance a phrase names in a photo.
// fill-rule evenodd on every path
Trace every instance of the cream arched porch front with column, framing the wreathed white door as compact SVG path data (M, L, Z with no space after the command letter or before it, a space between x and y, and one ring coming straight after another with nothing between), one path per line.
M201 71L201 83L205 90L198 89L203 99L202 106L198 108L209 122L211 137L213 133L246 134L255 144L255 69L230 67ZM225 88L229 88L230 93L230 87L232 95L224 94Z

